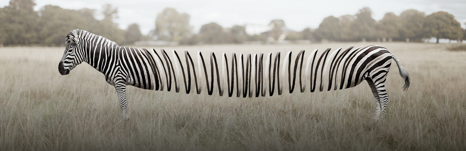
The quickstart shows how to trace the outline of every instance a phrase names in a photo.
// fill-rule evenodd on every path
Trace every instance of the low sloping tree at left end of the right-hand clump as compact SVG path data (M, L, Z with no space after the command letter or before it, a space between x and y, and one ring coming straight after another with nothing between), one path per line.
M317 39L340 39L341 27L340 21L333 16L326 17L322 20L319 28L315 29L314 35Z

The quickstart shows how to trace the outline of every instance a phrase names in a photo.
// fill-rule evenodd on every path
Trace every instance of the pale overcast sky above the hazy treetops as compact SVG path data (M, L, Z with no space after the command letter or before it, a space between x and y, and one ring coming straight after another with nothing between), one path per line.
M8 5L9 0L0 0L0 7ZM323 18L345 14L355 14L363 7L372 10L372 17L380 20L384 13L399 15L406 9L414 8L427 15L438 11L453 14L465 27L466 0L35 0L35 10L45 5L56 5L67 9L91 8L100 15L102 6L110 3L118 7L119 18L116 22L126 29L129 24L137 23L141 32L147 34L155 25L155 18L165 7L174 7L181 13L191 15L190 24L194 32L210 22L223 27L233 25L267 25L270 20L282 19L289 29L301 31L306 27L317 28Z

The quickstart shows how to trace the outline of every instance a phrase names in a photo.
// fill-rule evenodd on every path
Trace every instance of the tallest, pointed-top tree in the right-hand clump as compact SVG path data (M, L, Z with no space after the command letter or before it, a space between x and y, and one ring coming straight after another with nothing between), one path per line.
M369 7L364 7L356 13L356 20L351 24L351 28L356 31L357 38L370 39L374 36L376 20L372 19L372 11Z

